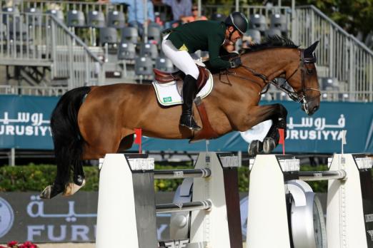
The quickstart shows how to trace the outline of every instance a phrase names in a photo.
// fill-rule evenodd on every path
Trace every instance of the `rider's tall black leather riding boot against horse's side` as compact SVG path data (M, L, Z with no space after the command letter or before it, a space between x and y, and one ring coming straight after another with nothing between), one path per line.
M190 75L186 75L184 78L183 105L179 124L184 125L186 128L189 128L190 130L201 129L201 127L197 125L192 114L193 100L196 95L196 91L197 80Z

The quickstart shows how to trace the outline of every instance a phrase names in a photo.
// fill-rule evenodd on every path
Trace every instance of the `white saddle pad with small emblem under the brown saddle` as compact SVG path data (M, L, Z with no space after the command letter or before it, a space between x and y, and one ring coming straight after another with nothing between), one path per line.
M177 90L176 81L169 83L158 83L153 81L154 91L156 92L156 99L159 104L163 106L178 105L183 103L181 95ZM207 79L204 87L199 91L197 96L200 98L206 98L209 93L212 92L214 86L214 81L212 79L212 74L209 72L209 79Z

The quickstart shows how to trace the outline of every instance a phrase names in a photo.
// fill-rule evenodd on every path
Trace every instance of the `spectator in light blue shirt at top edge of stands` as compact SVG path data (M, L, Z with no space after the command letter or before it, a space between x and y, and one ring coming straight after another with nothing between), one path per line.
M128 26L133 26L139 31L139 36L142 36L144 33L144 1L139 0L99 0L99 3L108 3L111 4L126 4L127 14L128 14ZM148 23L154 21L154 6L153 3L147 1L148 9Z

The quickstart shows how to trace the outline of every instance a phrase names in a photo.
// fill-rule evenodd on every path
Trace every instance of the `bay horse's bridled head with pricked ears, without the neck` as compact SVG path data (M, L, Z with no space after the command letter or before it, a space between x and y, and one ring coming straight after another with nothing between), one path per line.
M312 115L319 109L320 90L316 71L316 56L314 50L319 41L316 41L306 49L299 49L299 63L294 63L293 70L287 71L287 81L294 89L289 96L293 100L302 103L302 110L307 115Z

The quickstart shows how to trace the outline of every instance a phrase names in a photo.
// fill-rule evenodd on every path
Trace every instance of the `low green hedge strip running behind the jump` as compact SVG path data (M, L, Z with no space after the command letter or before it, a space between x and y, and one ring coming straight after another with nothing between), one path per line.
M156 170L190 169L191 165L156 165ZM302 170L327 170L326 165L318 167L302 166ZM84 191L97 191L99 189L98 167L85 166L86 186ZM50 185L56 175L55 165L22 165L0 167L0 192L26 192L41 191ZM174 191L181 183L179 180L155 180L156 191ZM327 181L309 182L314 192L327 192ZM247 192L249 186L249 168L239 168L239 191Z

